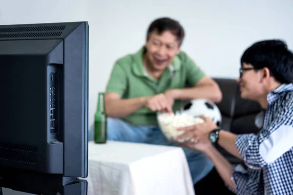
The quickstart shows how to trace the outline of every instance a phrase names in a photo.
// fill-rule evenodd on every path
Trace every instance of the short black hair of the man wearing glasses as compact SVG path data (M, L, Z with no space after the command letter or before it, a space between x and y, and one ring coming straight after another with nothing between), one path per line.
M241 65L251 64L255 70L267 67L280 83L293 82L293 53L285 41L272 39L252 44L242 55Z

